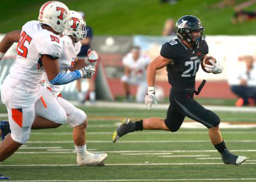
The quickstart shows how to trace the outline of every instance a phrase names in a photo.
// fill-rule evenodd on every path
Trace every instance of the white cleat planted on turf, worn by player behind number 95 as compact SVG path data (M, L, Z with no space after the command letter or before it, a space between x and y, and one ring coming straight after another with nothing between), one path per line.
M99 165L102 166L102 162L106 159L108 154L106 153L91 153L88 152L84 157L76 158L77 164L79 166L90 166L90 165Z

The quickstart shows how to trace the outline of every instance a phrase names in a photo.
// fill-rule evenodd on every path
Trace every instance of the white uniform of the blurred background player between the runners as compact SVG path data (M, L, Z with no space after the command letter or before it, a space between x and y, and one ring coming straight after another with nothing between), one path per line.
M131 69L129 77L122 76L121 81L129 84L138 85L136 93L136 101L144 102L147 92L146 67L150 63L150 58L141 55L138 60L134 60L132 53L128 53L123 57L122 63L125 67Z

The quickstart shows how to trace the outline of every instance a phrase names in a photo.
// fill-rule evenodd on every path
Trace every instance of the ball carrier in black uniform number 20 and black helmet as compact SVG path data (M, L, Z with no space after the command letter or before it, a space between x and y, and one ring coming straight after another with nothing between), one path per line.
M219 129L220 118L193 98L194 93L198 95L205 83L203 81L198 90L195 90L196 73L201 60L208 54L208 45L203 34L204 27L197 17L187 15L177 21L176 31L178 38L164 43L160 56L156 57L147 67L148 92L145 97L145 104L149 109L153 103L157 105L154 88L156 70L166 66L168 82L172 85L166 118L164 120L148 118L136 122L123 119L113 134L113 142L116 142L126 133L143 129L175 132L187 116L208 128L209 138L221 153L222 161L225 164L239 165L246 160L246 157L234 155L226 148ZM212 65L205 67L206 71L214 74L222 73L223 69L218 61L211 63Z

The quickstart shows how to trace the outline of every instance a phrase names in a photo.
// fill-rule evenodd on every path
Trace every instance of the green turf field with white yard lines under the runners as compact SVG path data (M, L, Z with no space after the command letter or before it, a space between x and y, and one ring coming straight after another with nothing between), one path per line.
M256 128L222 130L227 147L248 157L241 166L229 166L222 164L204 128L140 131L111 142L122 117L164 118L165 110L82 109L89 117L88 149L108 153L104 167L76 166L72 128L63 125L33 130L29 142L0 165L0 173L22 181L256 181ZM256 113L218 114L223 121L256 123Z

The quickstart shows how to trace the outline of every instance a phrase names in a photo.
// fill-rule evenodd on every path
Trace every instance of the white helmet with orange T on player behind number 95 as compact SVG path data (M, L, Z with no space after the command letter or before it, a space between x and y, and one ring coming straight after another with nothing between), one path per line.
M70 11L70 18L67 21L66 29L63 32L64 35L72 35L76 41L86 38L86 22L82 19L82 16L76 11Z

